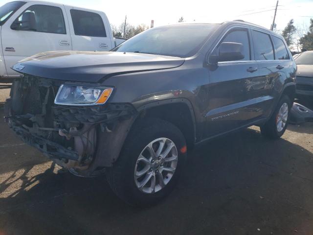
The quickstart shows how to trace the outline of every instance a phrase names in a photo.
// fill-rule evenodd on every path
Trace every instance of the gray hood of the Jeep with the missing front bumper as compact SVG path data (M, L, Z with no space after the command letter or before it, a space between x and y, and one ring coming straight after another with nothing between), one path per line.
M97 51L50 51L28 57L13 70L34 76L79 82L102 82L124 73L171 69L181 66L183 58Z

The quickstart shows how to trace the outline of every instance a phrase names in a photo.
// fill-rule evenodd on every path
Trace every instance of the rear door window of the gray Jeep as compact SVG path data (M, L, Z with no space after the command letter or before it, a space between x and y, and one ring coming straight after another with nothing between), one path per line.
M274 48L267 33L252 30L254 55L256 60L273 60Z

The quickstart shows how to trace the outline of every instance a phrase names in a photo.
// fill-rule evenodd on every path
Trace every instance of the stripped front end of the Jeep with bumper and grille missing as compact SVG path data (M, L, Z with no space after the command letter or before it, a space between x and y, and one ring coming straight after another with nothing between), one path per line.
M26 74L16 79L5 120L56 164L77 175L97 175L118 158L136 110L130 104L57 105L61 83Z

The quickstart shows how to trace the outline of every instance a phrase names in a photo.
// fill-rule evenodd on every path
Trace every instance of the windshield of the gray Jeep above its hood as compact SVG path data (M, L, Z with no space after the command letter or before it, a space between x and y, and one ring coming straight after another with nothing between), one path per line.
M112 51L190 57L203 46L216 24L178 24L146 30Z

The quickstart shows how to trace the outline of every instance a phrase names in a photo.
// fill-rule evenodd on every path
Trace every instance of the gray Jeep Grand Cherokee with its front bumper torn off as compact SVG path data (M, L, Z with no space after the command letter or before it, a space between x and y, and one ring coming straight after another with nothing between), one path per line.
M296 65L280 35L232 21L156 27L109 52L40 53L13 69L12 130L142 206L170 193L200 143L251 125L282 136Z

